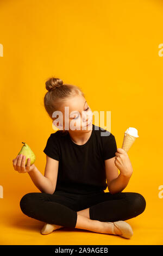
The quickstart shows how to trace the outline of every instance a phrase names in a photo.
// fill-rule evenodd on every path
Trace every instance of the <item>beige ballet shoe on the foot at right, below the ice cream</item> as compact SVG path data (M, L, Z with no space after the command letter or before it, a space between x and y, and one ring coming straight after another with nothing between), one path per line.
M115 227L118 228L122 233L122 235L116 234L115 231L114 231L114 225L112 225L112 234L122 236L122 237L127 238L127 239L130 239L131 236L133 236L133 229L131 228L131 226L127 222L125 222L125 221L116 221L116 222L107 222L107 223L113 223L115 225Z

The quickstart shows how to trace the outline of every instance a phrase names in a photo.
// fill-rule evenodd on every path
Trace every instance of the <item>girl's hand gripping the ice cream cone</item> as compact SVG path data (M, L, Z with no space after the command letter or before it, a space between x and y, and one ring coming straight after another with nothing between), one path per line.
M131 176L133 173L133 167L129 160L128 154L125 150L118 148L115 153L115 165L124 176Z

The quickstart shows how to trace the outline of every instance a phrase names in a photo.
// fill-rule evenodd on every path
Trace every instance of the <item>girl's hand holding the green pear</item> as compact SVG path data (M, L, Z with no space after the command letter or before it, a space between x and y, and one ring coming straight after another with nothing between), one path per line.
M35 164L33 163L32 166L30 166L30 158L27 160L27 165L25 166L26 163L26 156L24 155L17 155L15 159L12 160L14 169L17 170L18 173L27 173L30 172L31 170L34 170Z

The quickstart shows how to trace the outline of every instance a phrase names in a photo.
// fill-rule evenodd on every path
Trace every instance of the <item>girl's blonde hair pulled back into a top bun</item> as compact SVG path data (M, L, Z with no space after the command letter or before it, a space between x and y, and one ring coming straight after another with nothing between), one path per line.
M64 102L73 96L82 95L84 93L78 86L73 86L72 84L64 84L59 78L51 77L46 81L46 89L48 92L44 96L44 106L49 115L53 120L53 112L59 111L64 107ZM62 133L67 134L67 130L60 130Z

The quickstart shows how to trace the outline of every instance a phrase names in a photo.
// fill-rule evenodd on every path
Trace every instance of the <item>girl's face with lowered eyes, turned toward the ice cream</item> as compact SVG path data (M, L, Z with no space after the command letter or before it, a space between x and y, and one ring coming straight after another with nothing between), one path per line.
M78 132L92 130L92 111L82 95L76 95L70 100L66 100L61 112L63 117L63 120L60 120L60 124L63 123L62 130L68 129Z

